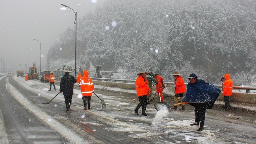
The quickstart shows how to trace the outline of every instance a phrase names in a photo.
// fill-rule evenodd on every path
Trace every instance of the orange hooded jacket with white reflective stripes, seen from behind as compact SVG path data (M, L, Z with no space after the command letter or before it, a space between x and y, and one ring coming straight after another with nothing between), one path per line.
M78 84L80 85L83 96L92 96L94 92L93 80L91 80L88 75L87 70L84 70L83 77L78 79Z

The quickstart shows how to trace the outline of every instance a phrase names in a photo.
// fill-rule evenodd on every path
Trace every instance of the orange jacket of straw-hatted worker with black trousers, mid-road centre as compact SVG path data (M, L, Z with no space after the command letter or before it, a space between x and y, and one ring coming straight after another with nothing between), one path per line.
M137 91L137 97L148 95L149 87L148 87L148 81L145 81L142 76L139 76L136 81L136 91Z

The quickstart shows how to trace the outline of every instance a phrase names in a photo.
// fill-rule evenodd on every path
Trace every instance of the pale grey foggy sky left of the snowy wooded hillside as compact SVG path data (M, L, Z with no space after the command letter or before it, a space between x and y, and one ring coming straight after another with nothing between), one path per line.
M40 70L40 43L42 42L42 71L45 70L47 52L54 41L66 28L74 28L74 12L67 8L61 11L65 4L77 12L77 18L94 11L106 0L1 0L0 5L0 58L6 65L6 70L16 73L25 69L19 64L36 62ZM79 21L78 21L79 22ZM79 37L79 36L78 36ZM0 59L1 60L1 59ZM47 69L47 68L46 68ZM27 66L28 70L28 66ZM1 66L0 66L1 72Z

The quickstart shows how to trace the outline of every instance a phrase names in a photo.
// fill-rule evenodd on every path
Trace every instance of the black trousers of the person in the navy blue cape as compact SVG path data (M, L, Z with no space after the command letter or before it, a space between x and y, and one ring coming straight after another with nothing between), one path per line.
M206 112L206 104L204 103L196 103L195 104L195 123L200 122L200 127L204 127L204 119L205 119L205 112Z

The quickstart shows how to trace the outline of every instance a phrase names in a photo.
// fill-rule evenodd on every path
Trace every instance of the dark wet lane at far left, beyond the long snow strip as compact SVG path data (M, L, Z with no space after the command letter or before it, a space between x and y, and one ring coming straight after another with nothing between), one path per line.
M0 81L0 110L9 143L19 144L67 144L65 138L48 128L33 114L13 99L6 88L6 79Z

